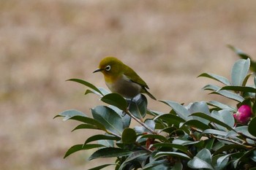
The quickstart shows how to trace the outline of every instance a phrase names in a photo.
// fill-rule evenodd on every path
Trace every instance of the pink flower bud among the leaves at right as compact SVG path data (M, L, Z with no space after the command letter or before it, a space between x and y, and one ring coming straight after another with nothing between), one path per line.
M246 124L252 116L252 109L248 105L242 105L233 116L238 123Z

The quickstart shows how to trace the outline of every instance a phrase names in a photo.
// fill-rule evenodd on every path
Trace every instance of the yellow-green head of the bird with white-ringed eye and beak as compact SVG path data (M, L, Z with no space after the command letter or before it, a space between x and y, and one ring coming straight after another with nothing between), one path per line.
M102 72L106 77L118 77L121 74L121 69L123 68L124 63L119 61L114 57L103 58L99 63L99 69L95 72Z

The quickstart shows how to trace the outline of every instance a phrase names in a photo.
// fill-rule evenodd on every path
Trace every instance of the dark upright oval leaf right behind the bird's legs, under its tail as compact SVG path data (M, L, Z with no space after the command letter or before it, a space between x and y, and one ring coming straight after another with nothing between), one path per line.
M140 94L135 98L132 98L129 104L129 112L140 120L146 116L148 101L146 96Z

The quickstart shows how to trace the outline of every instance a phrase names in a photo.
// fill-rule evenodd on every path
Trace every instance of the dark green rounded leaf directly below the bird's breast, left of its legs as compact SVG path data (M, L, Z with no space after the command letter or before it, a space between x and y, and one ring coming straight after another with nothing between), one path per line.
M113 105L121 110L127 109L127 101L118 93L109 93L101 98L106 104Z

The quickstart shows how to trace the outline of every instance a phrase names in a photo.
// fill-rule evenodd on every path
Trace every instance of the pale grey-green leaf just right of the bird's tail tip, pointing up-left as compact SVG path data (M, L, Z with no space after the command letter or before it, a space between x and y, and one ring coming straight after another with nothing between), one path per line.
M182 106L181 104L176 103L175 101L161 101L164 104L167 104L168 106L172 107L173 110L177 113L178 116L180 116L184 120L191 120L192 118L189 117L190 113L187 110L186 107Z

